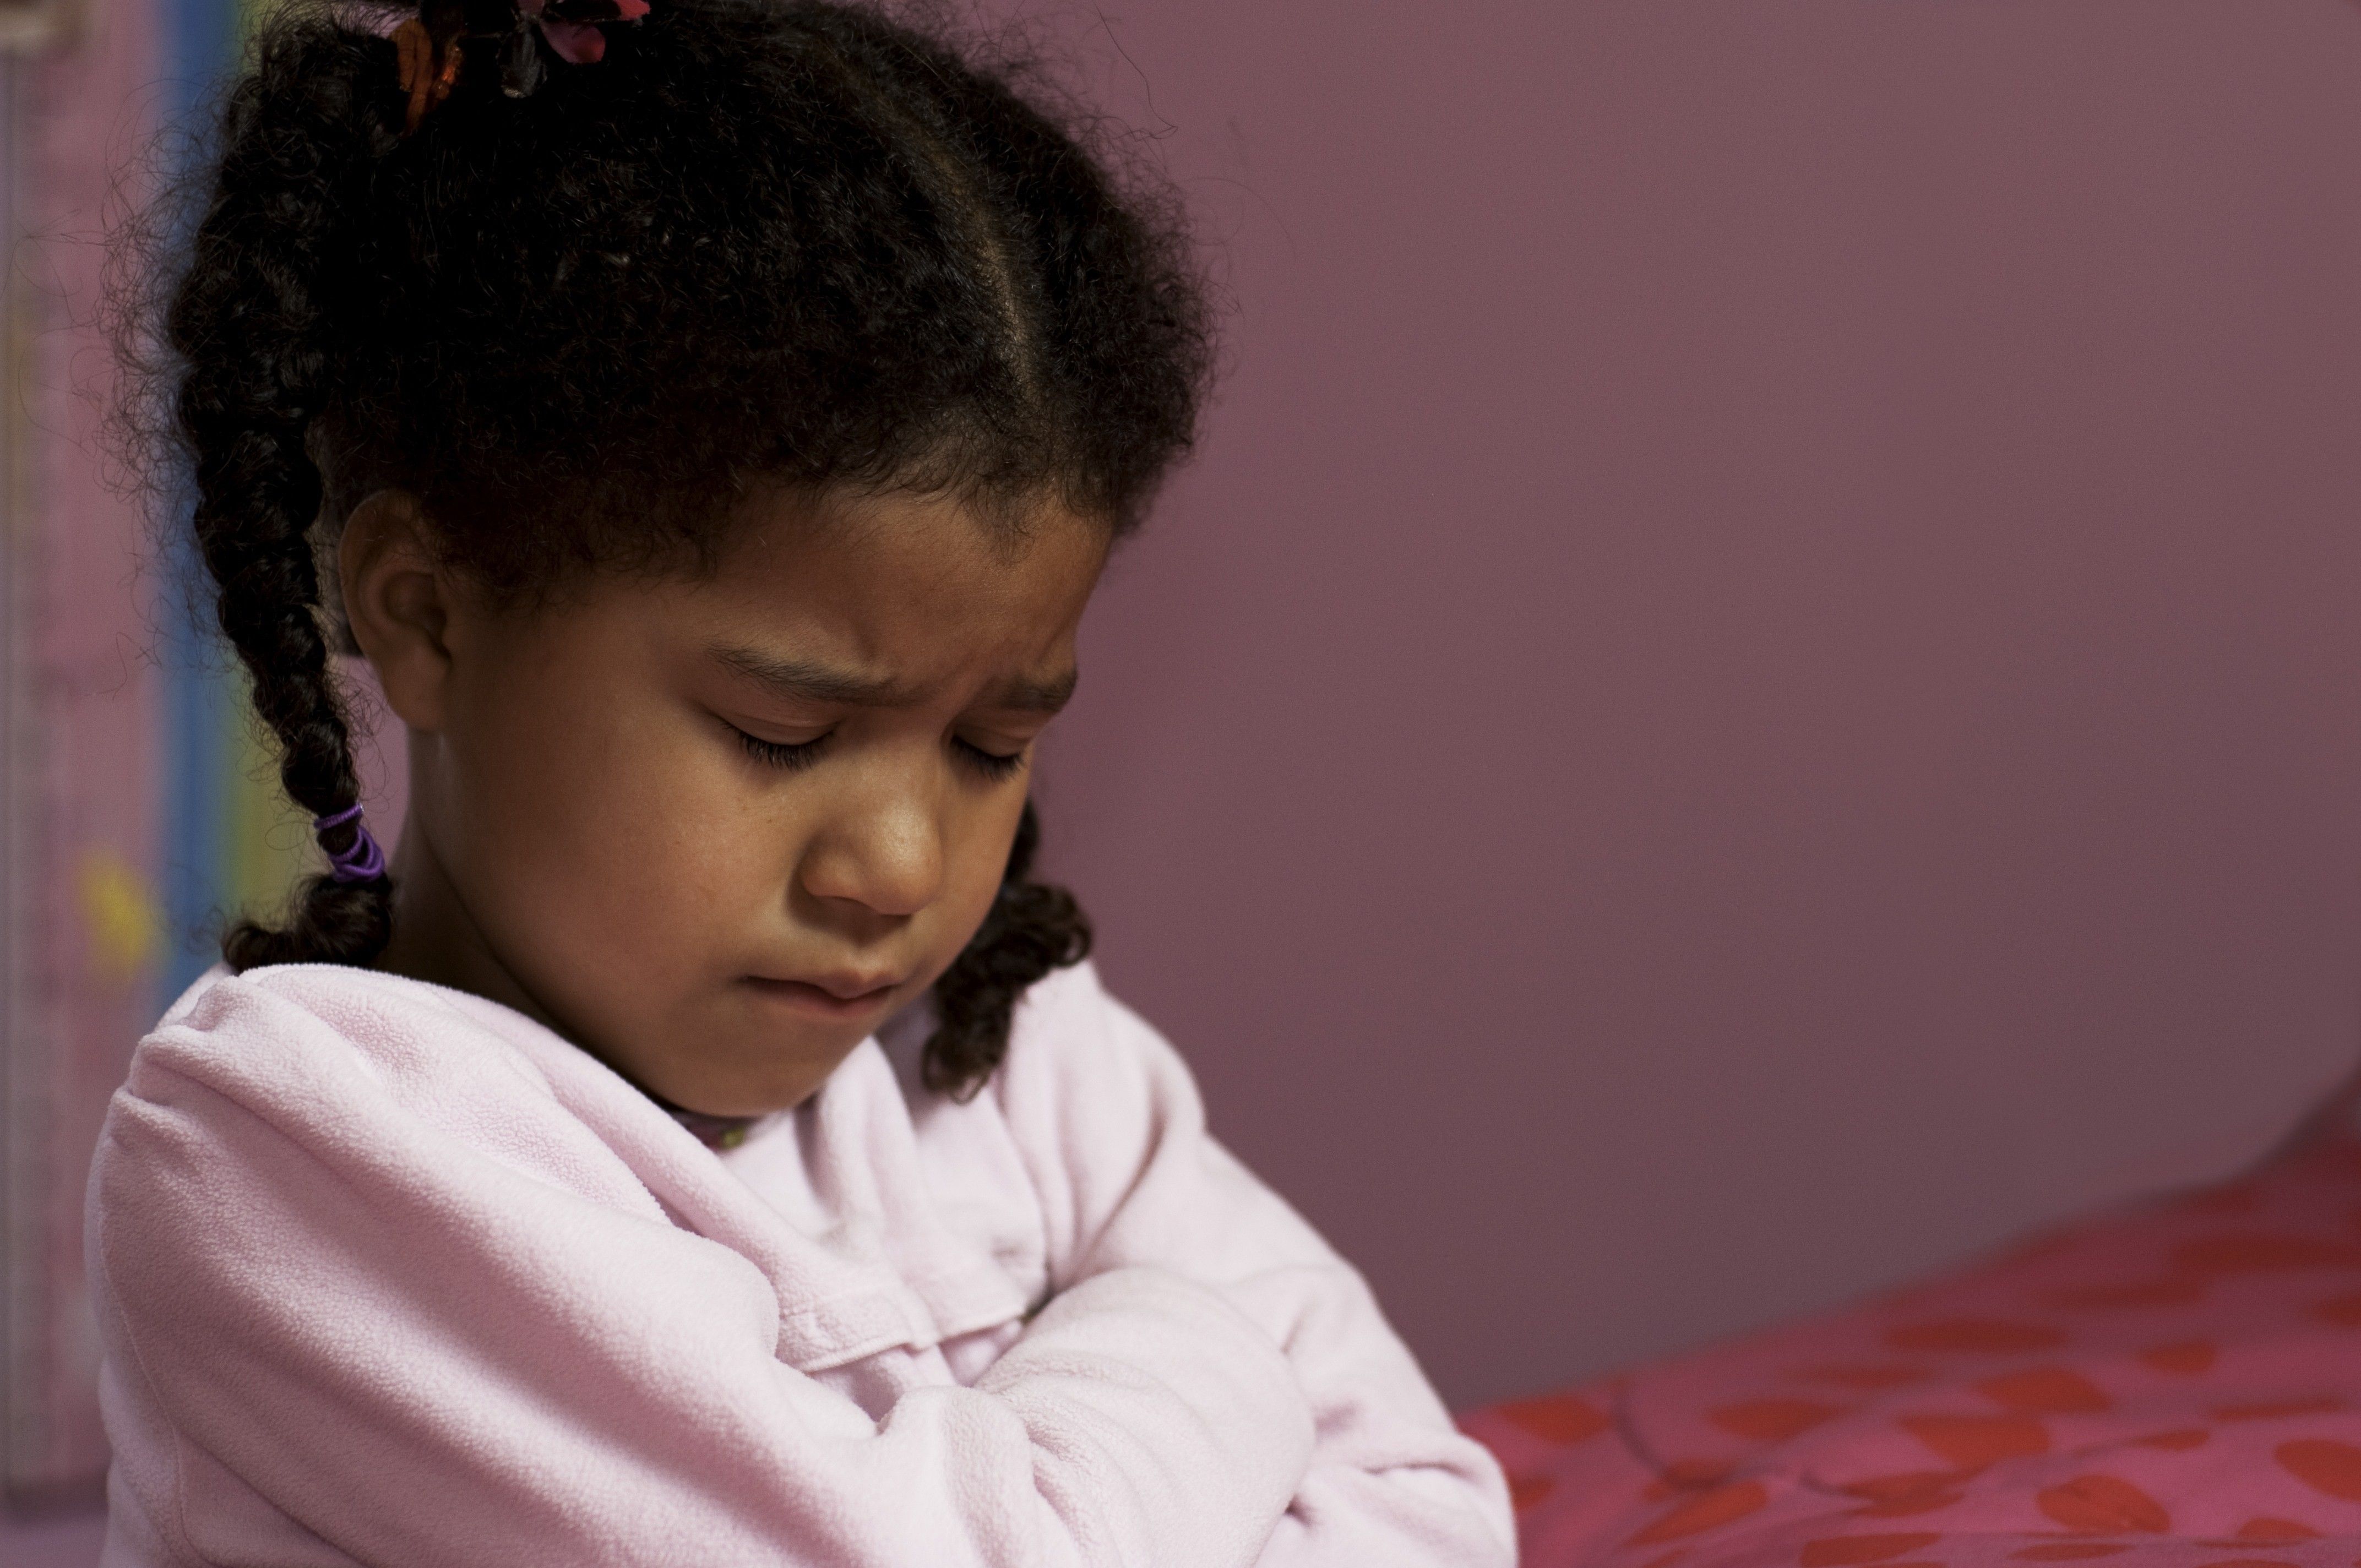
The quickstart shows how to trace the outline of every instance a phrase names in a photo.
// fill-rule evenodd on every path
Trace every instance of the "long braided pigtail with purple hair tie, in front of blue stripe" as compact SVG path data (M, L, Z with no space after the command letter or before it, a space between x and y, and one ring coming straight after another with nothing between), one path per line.
M241 921L231 968L368 963L392 935L392 881L359 822L359 775L328 671L307 451L335 385L338 290L357 286L352 215L392 149L392 45L293 33L264 45L222 111L220 163L165 316L184 375L175 423L196 479L196 545L217 619L253 680L288 796L321 822L335 876L286 926ZM359 874L357 874L359 871Z

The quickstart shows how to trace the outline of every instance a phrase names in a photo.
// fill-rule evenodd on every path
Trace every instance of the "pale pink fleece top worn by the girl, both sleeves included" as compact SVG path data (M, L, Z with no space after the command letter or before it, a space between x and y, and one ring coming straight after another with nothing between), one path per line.
M109 1568L1513 1561L1362 1280L1088 966L713 1152L529 1018L215 971L90 1183Z

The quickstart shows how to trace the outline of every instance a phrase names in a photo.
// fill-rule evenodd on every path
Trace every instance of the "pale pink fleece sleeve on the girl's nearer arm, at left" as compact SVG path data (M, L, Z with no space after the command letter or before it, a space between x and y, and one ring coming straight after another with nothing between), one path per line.
M253 980L144 1041L90 1188L111 1561L1242 1568L1265 1547L1310 1417L1221 1289L1093 1268L977 1386L874 1419L777 1358L763 1270L671 1223L491 1044L357 1048Z

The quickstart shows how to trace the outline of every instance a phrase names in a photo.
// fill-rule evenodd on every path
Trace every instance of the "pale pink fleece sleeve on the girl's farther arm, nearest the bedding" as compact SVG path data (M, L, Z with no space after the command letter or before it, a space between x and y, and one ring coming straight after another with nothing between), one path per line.
M1362 1278L1204 1126L1178 1053L1088 966L1036 985L996 1079L1048 1223L1051 1287L1157 1268L1221 1292L1287 1353L1310 1466L1263 1568L1516 1561L1509 1490Z

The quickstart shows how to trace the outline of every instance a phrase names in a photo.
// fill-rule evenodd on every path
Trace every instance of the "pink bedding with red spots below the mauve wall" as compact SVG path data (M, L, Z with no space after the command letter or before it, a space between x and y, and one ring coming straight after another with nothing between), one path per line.
M1528 1568L2361 1563L2361 1143L1464 1426Z

